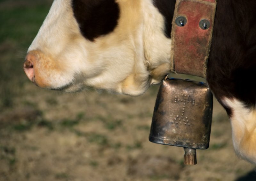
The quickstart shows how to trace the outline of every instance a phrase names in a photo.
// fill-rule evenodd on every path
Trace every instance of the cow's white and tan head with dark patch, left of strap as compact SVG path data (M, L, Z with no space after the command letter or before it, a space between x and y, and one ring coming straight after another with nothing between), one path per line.
M171 40L163 27L151 1L55 0L24 70L43 88L139 95L169 71Z

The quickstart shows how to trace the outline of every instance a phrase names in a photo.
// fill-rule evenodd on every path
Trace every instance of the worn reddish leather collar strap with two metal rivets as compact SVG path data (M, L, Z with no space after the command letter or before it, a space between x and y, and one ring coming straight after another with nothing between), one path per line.
M176 1L171 34L173 72L206 76L215 11L216 0Z

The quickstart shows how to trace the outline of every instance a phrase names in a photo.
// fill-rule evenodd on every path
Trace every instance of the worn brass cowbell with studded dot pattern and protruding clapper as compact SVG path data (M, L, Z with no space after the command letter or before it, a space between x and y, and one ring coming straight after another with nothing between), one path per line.
M206 83L166 76L157 94L149 141L183 147L184 164L196 164L196 149L209 147L212 103Z

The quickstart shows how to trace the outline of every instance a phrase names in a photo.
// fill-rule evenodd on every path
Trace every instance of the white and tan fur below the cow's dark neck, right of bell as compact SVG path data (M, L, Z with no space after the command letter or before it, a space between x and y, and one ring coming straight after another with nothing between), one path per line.
M256 110L245 107L235 98L222 101L232 110L230 121L236 154L256 164Z

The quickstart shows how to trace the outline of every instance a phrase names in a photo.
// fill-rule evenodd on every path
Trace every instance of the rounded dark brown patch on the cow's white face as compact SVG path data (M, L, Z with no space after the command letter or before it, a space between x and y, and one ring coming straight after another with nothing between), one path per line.
M81 33L90 41L112 32L119 19L115 0L73 0L72 8Z

